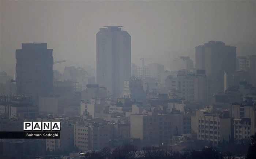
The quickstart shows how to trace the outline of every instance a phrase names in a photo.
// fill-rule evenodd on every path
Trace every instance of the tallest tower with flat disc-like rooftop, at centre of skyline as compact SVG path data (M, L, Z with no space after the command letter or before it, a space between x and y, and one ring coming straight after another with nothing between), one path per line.
M122 26L100 28L97 41L97 84L108 96L121 96L124 81L131 77L131 36Z

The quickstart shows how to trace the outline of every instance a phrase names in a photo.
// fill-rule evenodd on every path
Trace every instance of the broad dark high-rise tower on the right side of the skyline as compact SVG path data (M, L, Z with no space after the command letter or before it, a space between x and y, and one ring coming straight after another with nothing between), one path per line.
M236 70L236 47L222 41L209 41L196 47L196 69L205 69L212 78L212 93L223 92L224 71Z

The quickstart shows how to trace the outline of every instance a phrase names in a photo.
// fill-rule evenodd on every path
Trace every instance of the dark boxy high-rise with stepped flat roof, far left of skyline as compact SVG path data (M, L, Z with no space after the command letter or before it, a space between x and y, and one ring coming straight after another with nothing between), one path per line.
M16 91L31 95L34 104L53 89L52 51L47 43L22 44L22 49L16 49Z

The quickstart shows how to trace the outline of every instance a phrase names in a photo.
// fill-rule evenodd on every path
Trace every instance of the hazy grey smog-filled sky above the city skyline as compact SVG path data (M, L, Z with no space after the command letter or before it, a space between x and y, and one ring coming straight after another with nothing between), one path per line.
M46 42L54 65L96 66L96 33L123 25L132 39L132 62L158 62L189 55L208 40L256 45L255 1L1 1L1 71L15 72L15 49Z

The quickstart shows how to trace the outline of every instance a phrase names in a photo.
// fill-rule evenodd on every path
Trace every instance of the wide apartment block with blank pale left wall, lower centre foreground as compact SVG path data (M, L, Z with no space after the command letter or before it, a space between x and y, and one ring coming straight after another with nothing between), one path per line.
M131 138L140 138L145 146L169 143L172 135L181 133L182 114L131 114Z

